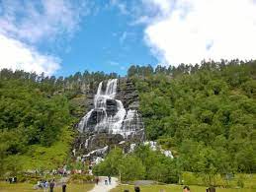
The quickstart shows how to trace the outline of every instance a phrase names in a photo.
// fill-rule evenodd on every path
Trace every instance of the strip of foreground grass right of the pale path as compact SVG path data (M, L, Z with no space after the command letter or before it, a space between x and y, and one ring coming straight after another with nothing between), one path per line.
M192 192L206 192L207 187L202 186L190 186ZM123 192L125 189L128 189L129 192L134 191L133 185L119 185L115 189L111 190L111 192ZM163 192L181 192L181 185L148 185L148 186L140 186L141 192L159 192L160 190ZM216 188L216 192L256 192L256 189L223 189Z

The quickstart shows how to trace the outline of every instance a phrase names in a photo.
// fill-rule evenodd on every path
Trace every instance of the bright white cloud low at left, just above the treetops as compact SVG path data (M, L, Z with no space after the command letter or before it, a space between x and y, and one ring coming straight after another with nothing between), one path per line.
M59 69L60 60L43 55L33 47L0 33L0 69L24 70L51 75Z

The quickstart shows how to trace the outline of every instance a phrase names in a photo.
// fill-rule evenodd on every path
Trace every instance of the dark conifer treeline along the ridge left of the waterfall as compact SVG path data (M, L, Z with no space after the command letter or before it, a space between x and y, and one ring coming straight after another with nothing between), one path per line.
M2 69L0 71L0 80L20 80L24 83L36 83L37 86L47 94L54 94L56 91L62 91L71 94L94 89L97 83L111 78L119 78L117 73L106 74L104 72L77 72L68 77L45 76L44 73L38 75L23 70L12 71Z

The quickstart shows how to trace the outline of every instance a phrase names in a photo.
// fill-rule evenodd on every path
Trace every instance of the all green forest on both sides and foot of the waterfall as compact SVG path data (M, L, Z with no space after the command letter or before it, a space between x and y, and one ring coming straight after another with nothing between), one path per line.
M138 90L146 139L171 150L174 159L145 146L129 155L116 149L94 168L96 174L171 183L187 171L256 172L256 61L132 65L127 76ZM118 77L85 71L56 78L1 70L0 169L17 169L21 160L42 166L50 160L48 168L66 160L79 120L72 98Z

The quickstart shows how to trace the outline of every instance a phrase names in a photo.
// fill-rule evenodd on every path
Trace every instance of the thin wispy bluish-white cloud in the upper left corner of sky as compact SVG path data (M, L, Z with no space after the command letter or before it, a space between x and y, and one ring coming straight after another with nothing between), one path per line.
M72 35L81 16L88 13L86 4L68 0L2 1L0 32L34 43Z

